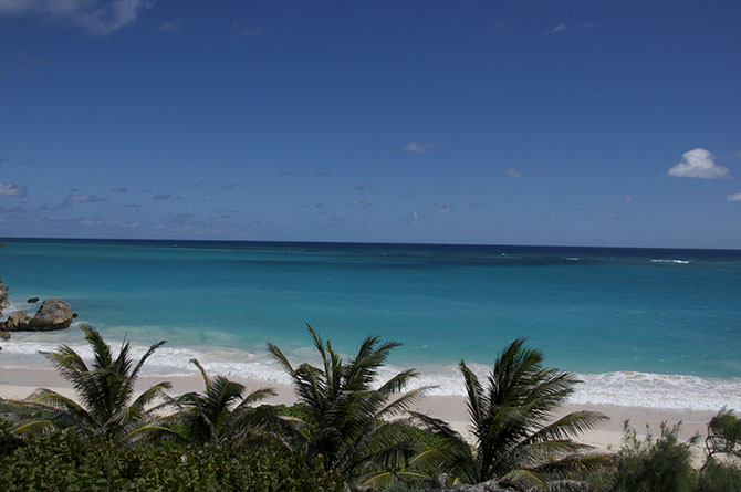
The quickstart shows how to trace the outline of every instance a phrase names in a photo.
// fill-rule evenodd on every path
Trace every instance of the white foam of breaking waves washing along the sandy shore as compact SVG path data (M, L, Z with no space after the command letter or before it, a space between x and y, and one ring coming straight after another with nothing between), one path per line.
M25 335L25 334L24 334ZM59 343L65 343L64 336L43 341L42 336L28 334L23 341L18 336L2 343L0 366L14 369L51 369L51 365L39 350L52 350ZM119 342L118 342L119 343ZM114 350L117 342L111 341ZM79 339L69 344L85 358L92 358L92 350ZM147 347L133 345L132 355L144 355ZM292 362L309 360L316 363L313 350L302 348L286 356ZM190 359L197 358L208 371L228 377L241 377L264 380L267 383L290 384L290 378L267 354L253 354L238 349L194 348L164 346L159 348L144 366L142 374L148 376L174 377L196 373ZM471 368L484 378L488 367L471 365ZM384 367L380 378L386 379L401 367ZM429 395L466 395L460 374L456 365L418 366L420 376L410 388L428 386ZM719 379L687 375L662 375L651 373L616 371L604 374L580 374L584 383L576 387L570 402L578 405L618 405L626 407L669 408L717 411L722 407L741 410L741 378ZM484 379L486 380L486 379Z

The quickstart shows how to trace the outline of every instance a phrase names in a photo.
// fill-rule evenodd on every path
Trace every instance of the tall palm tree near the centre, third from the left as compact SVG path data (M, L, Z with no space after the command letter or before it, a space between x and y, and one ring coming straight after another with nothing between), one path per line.
M268 344L269 353L293 379L299 400L314 423L312 431L301 432L300 425L285 426L292 433L293 449L310 460L319 459L327 471L357 477L374 468L397 463L400 454L415 453L400 432L404 422L388 420L408 409L426 388L397 397L417 376L403 370L373 389L378 369L397 342L380 343L369 336L357 354L344 362L331 342L324 343L310 326L309 333L321 357L321 367L303 363L293 367L283 353Z

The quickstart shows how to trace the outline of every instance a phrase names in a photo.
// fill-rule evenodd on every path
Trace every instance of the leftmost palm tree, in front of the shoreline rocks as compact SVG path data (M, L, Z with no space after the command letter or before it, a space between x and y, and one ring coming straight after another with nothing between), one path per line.
M124 341L114 358L111 347L92 326L82 326L85 341L93 348L93 364L70 346L60 345L54 352L41 352L60 375L72 384L76 400L46 388L39 388L18 406L33 410L31 418L15 427L17 432L34 430L74 429L107 438L122 437L147 421L145 409L154 399L169 389L169 383L159 383L146 389L134 401L134 385L144 363L165 342L149 347L134 366L129 343Z

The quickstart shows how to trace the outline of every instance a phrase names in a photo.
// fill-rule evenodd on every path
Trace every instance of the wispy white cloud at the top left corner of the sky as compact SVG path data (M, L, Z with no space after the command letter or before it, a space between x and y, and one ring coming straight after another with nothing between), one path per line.
M0 15L28 15L65 22L107 35L136 22L147 0L0 0Z

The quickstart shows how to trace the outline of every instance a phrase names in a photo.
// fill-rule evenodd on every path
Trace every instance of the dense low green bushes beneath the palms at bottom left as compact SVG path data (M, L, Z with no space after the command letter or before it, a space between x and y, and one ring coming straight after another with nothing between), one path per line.
M15 438L0 423L3 491L341 491L344 479L276 448L122 447L55 432Z

